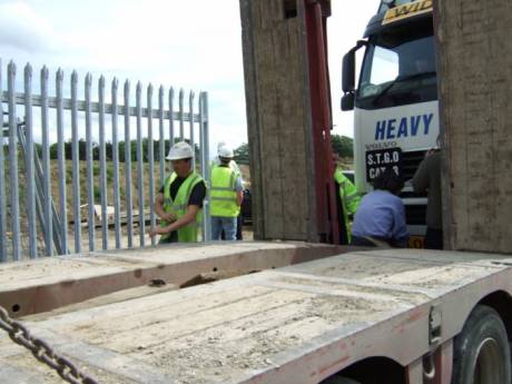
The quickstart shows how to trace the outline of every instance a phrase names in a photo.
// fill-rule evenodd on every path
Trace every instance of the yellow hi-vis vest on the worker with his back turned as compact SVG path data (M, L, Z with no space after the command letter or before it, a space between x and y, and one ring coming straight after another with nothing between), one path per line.
M236 204L235 183L237 173L229 167L211 169L210 214L218 217L237 217L240 207Z

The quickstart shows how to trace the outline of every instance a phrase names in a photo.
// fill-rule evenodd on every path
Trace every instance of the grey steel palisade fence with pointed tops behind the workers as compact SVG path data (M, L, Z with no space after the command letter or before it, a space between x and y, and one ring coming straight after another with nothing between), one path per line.
M142 85L136 86L135 106L131 106L131 87L129 80L124 83L122 101L119 105L118 80L111 81L110 102L106 102L106 80L101 76L98 79L98 101L92 101L92 76L87 73L83 79L83 100L78 97L79 75L73 71L70 77L70 98L63 97L65 75L61 69L55 76L55 97L49 95L49 71L43 67L40 71L40 95L32 89L32 67L28 63L23 73L23 92L17 92L17 67L11 61L7 67L7 90L4 90L2 66L0 61L0 116L3 118L0 135L0 262L19 260L27 255L30 258L38 256L51 256L55 254L93 252L96 246L96 218L93 206L100 203L100 230L101 247L121 248L146 246L146 217L145 200L149 196L149 225L157 225L155 207L156 191L160 189L166 175L166 147L165 140L170 144L177 139L188 140L193 148L199 147L199 173L209 185L209 148L208 148L208 95L200 92L197 98L198 112L194 112L195 93L188 93L188 111L185 110L185 91L179 90L178 110L174 109L175 92L169 88L167 98L163 86L158 89L158 107L152 107L152 85L146 89L146 107L142 106ZM166 105L167 101L167 105ZM40 122L35 122L33 108L40 109ZM55 110L55 111L53 111ZM51 112L51 114L50 114ZM81 114L81 115L80 115ZM83 116L85 119L80 119ZM68 119L66 119L68 118ZM135 131L131 118L135 119ZM67 120L70 125L67 126ZM110 119L111 131L108 131ZM81 120L85 120L81 121ZM95 121L97 124L95 125ZM157 121L157 125L154 125ZM81 124L83 122L83 124ZM175 132L175 125L179 124L178 135ZM186 124L188 122L188 135ZM85 138L79 137L79 126L85 126ZM119 178L119 125L124 128L125 137L125 196L121 204L120 178ZM55 127L57 137L57 159L50 159L50 127ZM158 127L158 175L160 186L155 185L155 154L154 140L155 129ZM39 131L37 131L39 130ZM71 132L71 191L72 191L72 228L68 224L67 208L67 165L65 137ZM195 131L199 134L199 141L196 142ZM38 135L37 135L38 134ZM135 135L136 134L136 135ZM136 136L136 175L132 175L131 137ZM41 154L36 150L36 137L40 138ZM99 139L99 180L95 179L93 163L93 138ZM80 195L80 167L79 167L79 140L86 140L86 183L87 196ZM147 154L144 154L142 141L147 139ZM111 163L107 163L106 142L111 142ZM4 148L7 149L4 154ZM20 177L19 165L20 150L24 161L24 176ZM147 157L148 175L145 175L144 158ZM52 180L50 163L57 161L57 178ZM196 159L194 159L194 163ZM7 169L8 168L8 169ZM169 167L170 168L170 167ZM107 173L111 175L110 185L107 183ZM53 177L55 178L55 177ZM24 179L26 185L20 188L20 180ZM134 205L132 181L137 184L138 211ZM52 198L51 186L57 181L59 201ZM99 181L99 183L98 183ZM148 181L148 189L145 190L145 181ZM95 196L95 186L99 187L98 196ZM108 201L108 190L114 196L114 201ZM157 189L156 189L157 188ZM21 201L23 198L23 201ZM115 244L109 244L109 218L107 213L108 203L114 206L114 235ZM82 249L82 218L80 208L87 205L87 232L88 249ZM121 209L125 209L126 229L121 230ZM138 214L138 237L136 244L134 215ZM27 218L27 233L22 233L20 218ZM38 237L38 226L42 234ZM203 239L210 239L209 228L209 205L205 201L203 209ZM9 235L9 236L8 236ZM28 238L28 242L26 237ZM73 246L70 247L70 237L73 238ZM124 236L124 237L122 237ZM38 246L38 238L43 239L45 246ZM28 244L27 249L22 247L22 239ZM122 240L125 239L125 240ZM40 243L40 242L39 242ZM151 240L152 244L154 240Z

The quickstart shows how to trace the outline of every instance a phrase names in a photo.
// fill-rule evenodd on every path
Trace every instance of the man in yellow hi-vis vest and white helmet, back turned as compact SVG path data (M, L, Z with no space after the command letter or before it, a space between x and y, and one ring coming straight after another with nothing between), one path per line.
M224 229L226 240L236 240L237 217L244 199L240 174L229 166L233 149L218 148L219 164L211 169L210 214L211 239L219 240Z

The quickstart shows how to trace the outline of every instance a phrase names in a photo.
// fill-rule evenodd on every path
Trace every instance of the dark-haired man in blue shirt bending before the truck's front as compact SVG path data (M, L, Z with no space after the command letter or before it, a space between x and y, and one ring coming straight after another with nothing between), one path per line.
M373 186L374 190L363 197L355 214L352 244L406 247L405 208L396 196L404 183L392 168L386 168L374 179Z

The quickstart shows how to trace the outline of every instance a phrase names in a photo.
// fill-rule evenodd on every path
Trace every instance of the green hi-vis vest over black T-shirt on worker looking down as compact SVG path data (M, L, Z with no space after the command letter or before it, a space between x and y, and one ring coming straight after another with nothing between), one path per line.
M187 213L188 200L190 194L196 185L204 183L203 178L196 173L191 173L179 186L178 193L175 199L170 197L170 185L176 179L176 173L168 176L164 183L164 210L166 214L175 214L179 219ZM200 210L197 213L196 220L178 229L178 242L179 243L194 243L197 242L197 227ZM166 220L160 221L161 227L167 227L169 223ZM170 234L161 236L163 239L169 237Z

